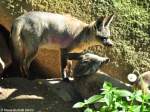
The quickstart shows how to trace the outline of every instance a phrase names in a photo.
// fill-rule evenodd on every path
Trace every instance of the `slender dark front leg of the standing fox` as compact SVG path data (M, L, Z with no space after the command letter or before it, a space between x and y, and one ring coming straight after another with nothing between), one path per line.
M67 54L68 54L68 51L66 49L61 49L61 74L62 74L63 80L69 82L67 73L64 70L67 65Z

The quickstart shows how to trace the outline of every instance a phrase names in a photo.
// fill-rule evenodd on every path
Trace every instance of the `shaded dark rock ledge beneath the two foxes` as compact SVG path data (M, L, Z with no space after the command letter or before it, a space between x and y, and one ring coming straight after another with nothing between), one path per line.
M0 109L29 109L35 112L80 112L73 104L100 92L104 81L131 89L110 76L97 72L69 83L60 79L6 78L0 80ZM81 111L82 112L82 111Z

